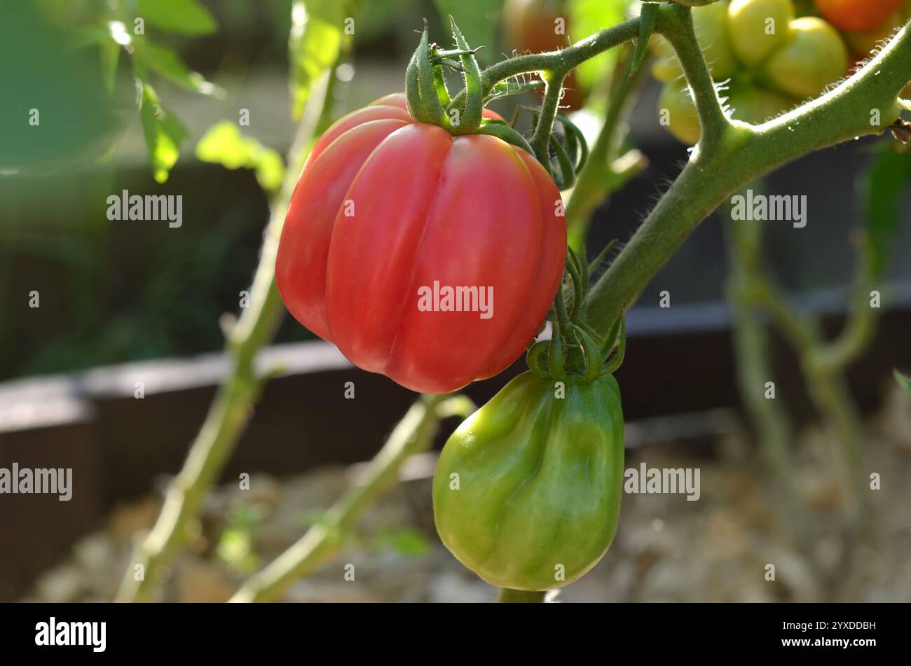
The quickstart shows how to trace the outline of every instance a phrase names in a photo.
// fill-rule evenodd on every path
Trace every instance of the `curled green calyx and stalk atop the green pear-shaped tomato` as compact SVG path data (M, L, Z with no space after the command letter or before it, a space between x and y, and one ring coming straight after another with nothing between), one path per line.
M612 245L605 247L590 265L568 248L568 280L558 289L551 308L551 337L533 342L526 355L528 369L538 377L589 384L613 374L623 362L626 318L620 315L604 339L586 321L589 275L604 261Z

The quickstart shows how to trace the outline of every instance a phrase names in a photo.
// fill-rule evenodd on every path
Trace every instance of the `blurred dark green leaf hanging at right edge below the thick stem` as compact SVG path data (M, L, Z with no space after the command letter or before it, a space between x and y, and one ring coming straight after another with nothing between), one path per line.
M866 230L870 238L871 269L879 276L885 269L898 228L899 206L911 182L911 153L899 153L892 146L876 156L859 181Z

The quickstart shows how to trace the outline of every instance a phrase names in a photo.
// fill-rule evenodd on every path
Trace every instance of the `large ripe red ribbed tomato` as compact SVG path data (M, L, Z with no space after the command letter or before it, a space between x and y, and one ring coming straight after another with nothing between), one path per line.
M533 156L417 124L396 94L344 116L313 146L275 278L292 315L354 365L443 393L522 353L565 256L558 188ZM462 311L447 309L456 307L447 287L467 288ZM472 299L471 288L488 298Z

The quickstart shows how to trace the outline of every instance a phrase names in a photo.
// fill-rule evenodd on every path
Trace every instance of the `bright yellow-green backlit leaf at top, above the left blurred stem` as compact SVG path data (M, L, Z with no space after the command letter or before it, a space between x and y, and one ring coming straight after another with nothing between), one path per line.
M345 6L340 0L295 0L292 6L288 55L294 120L302 116L313 83L341 53Z

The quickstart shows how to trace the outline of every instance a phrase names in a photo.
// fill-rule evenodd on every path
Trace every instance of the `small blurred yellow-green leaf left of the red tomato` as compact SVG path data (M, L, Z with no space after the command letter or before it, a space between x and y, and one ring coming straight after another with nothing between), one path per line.
M281 156L256 139L242 136L241 130L228 120L211 126L200 138L196 156L202 162L213 162L229 169L255 169L256 179L268 192L278 190L284 178Z

